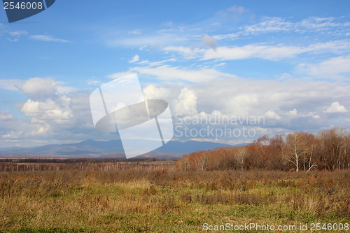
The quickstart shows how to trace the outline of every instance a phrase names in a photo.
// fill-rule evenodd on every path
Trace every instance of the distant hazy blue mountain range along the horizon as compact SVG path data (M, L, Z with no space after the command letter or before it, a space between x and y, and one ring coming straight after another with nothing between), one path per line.
M137 143L137 140L135 140ZM244 146L247 143L235 146ZM179 159L183 155L193 153L198 150L214 150L218 147L228 147L223 143L213 143L208 141L169 141L150 153L140 155L140 157ZM0 157L115 157L125 158L123 145L120 140L94 141L86 140L80 143L45 145L31 148L1 148Z

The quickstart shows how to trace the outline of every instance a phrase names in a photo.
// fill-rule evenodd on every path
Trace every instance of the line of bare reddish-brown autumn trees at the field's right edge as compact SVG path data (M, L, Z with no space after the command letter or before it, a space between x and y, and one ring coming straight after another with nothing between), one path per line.
M266 169L334 171L350 169L350 132L344 127L288 135L265 135L247 146L191 153L178 160L182 171Z

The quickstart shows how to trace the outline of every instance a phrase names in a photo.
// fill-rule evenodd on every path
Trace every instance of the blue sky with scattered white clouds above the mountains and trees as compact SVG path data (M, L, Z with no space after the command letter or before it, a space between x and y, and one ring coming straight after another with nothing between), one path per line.
M349 1L57 0L11 24L0 10L0 51L0 147L115 139L88 98L127 73L173 116L265 118L250 137L174 140L350 127Z

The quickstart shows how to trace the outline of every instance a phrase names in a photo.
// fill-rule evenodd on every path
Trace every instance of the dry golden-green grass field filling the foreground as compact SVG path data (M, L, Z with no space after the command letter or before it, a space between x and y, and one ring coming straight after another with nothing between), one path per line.
M350 223L350 171L4 171L0 197L0 232Z

